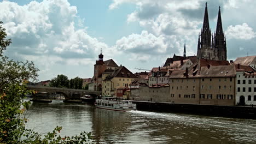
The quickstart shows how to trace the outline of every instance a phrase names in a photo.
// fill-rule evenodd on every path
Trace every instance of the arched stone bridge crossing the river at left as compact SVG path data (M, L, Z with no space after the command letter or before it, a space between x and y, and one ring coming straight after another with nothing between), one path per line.
M83 95L85 94L89 94L94 98L101 95L101 91L89 91L89 90L83 90L83 89L32 86L32 85L28 85L27 88L37 92L47 92L49 94L60 93L65 97L65 100L78 100L80 97L83 97Z

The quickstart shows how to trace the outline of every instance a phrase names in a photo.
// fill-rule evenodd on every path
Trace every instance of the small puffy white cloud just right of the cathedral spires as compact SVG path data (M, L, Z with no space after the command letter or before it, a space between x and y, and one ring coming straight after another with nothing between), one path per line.
M249 40L255 38L256 33L247 23L243 23L242 25L229 26L226 35L228 39Z

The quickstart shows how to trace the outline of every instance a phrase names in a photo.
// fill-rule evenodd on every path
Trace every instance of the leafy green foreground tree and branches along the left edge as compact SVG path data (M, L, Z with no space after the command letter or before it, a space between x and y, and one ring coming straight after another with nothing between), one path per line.
M2 24L2 22L0 22ZM18 62L3 56L3 51L11 40L6 39L5 29L0 25L0 143L86 143L91 134L82 132L78 136L61 137L61 127L44 136L26 129L24 112L29 102L23 101L28 91L28 80L35 81L38 76L33 62Z

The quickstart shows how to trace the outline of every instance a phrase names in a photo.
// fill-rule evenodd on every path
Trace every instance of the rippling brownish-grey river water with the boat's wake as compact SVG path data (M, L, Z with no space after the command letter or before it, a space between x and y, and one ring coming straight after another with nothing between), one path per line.
M61 136L91 131L96 143L256 143L256 121L147 111L118 112L90 104L32 103L27 127Z

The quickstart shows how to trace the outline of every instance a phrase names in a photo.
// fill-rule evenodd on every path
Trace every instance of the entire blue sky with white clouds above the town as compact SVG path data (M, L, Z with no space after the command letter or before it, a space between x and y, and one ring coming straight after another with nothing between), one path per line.
M0 0L11 59L33 61L39 81L59 74L88 78L102 49L133 73L168 57L196 55L205 3L212 32L222 12L228 60L256 55L253 0Z

